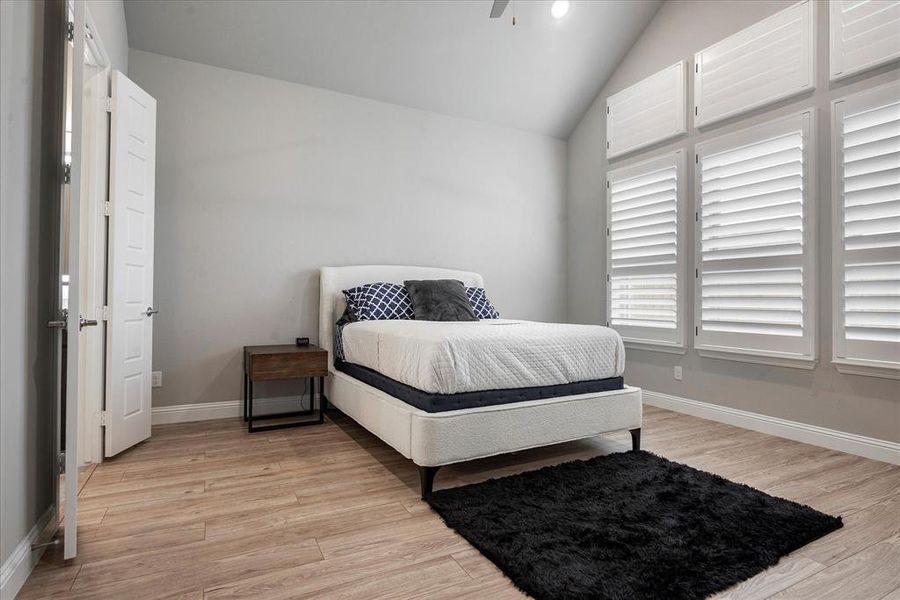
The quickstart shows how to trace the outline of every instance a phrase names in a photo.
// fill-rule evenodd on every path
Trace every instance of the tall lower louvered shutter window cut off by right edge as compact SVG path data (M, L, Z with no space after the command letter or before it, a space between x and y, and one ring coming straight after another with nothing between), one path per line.
M832 119L834 362L900 378L900 84L835 100Z

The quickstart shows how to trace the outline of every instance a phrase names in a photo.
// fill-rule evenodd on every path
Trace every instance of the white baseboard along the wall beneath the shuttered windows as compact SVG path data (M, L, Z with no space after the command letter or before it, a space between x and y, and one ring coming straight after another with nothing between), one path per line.
M896 442L808 425L799 421L788 421L650 390L643 391L643 398L644 402L651 406L900 465L900 444Z

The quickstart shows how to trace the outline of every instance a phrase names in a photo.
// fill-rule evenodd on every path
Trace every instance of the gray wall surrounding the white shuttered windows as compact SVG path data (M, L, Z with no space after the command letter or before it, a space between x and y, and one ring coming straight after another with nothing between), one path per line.
M603 271L606 261L605 223L606 115L605 103L614 94L652 73L685 59L692 65L694 52L794 4L794 0L755 2L706 2L669 0L656 13L644 33L626 55L594 104L568 141L568 318L574 322L605 322L606 300ZM874 74L846 82L828 82L828 10L817 9L817 89L813 94L782 102L732 119L700 132L690 128L687 136L648 151L616 159L613 167L628 164L676 148L693 151L695 144L725 132L740 129L813 106L818 123L819 205L819 365L814 371L700 358L688 349L684 356L630 350L626 367L629 383L648 390L748 410L841 431L900 441L900 382L872 377L842 375L831 357L831 187L829 103L845 94L883 84L897 77L896 69L882 68ZM693 68L693 66L691 66ZM691 86L688 86L689 89ZM690 92L689 92L690 93ZM693 106L688 102L688 106ZM693 202L691 161L686 175L687 198ZM692 228L689 228L692 230ZM692 231L687 237L693 247ZM689 263L692 255L688 255ZM689 271L693 265L689 264ZM687 285L688 307L692 307L693 282ZM693 311L686 310L686 330L693 331ZM690 338L690 336L688 336ZM690 343L689 343L690 345ZM672 368L683 365L684 380L675 381Z

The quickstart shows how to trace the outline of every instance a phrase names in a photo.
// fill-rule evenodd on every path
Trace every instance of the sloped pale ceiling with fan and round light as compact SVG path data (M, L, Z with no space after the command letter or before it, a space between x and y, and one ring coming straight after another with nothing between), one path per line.
M660 0L127 0L132 48L565 138Z

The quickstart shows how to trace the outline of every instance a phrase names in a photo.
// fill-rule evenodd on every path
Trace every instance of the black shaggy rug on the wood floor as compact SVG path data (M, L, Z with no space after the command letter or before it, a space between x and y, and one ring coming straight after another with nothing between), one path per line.
M428 503L539 600L705 598L842 526L643 451L440 490Z

